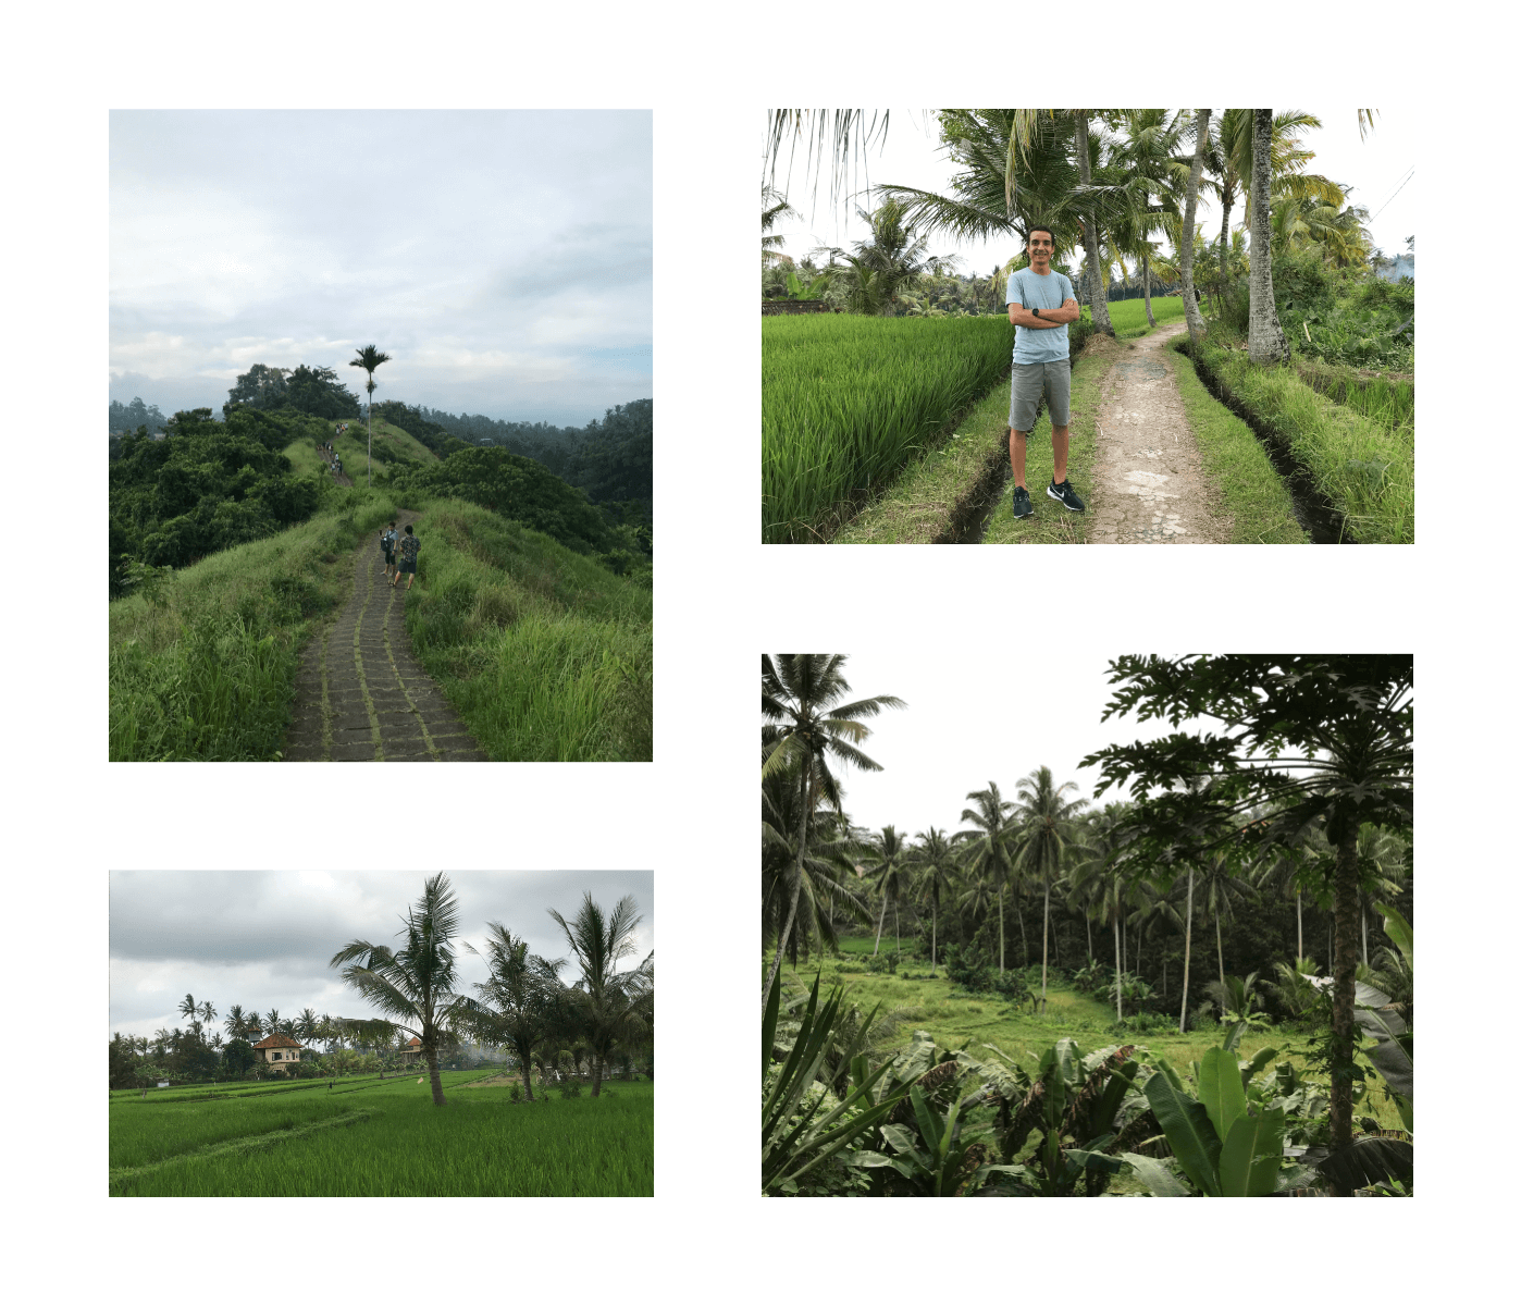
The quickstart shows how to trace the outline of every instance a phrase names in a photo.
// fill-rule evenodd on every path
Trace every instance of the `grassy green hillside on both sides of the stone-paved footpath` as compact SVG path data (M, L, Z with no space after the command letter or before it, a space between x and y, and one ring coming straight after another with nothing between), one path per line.
M319 483L310 519L193 566L141 568L110 604L108 760L283 760L303 653L353 595L354 549L377 549L405 508L421 542L402 600L412 651L490 760L654 761L653 591L589 556L599 542L573 499L554 514L558 492L497 451L510 490L551 513L540 521L561 543L511 502L403 489L443 464L383 422L367 490L364 438L350 422L333 440L351 489L332 484L315 434L281 451Z

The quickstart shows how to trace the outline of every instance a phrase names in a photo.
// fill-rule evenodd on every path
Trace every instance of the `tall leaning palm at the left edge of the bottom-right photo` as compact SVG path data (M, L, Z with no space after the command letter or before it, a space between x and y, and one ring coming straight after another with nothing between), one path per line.
M776 665L768 653L760 655L760 715L771 721L788 717L792 725L786 726L782 738L773 746L771 753L760 766L760 778L765 779L768 770L785 767L791 761L802 761L799 767L802 785L802 807L797 814L797 836L794 848L797 863L789 875L791 903L788 904L786 922L776 941L776 957L760 986L760 1014L765 1015L767 999L776 973L782 967L782 953L786 948L792 922L797 918L797 897L803 887L803 857L806 848L806 816L814 808L812 788L820 785L824 798L840 811L840 787L829 770L827 755L846 758L868 770L882 767L856 752L840 737L849 734L852 738L862 738L870 734L865 726L855 720L856 715L876 715L884 706L907 706L900 699L887 694L875 699L864 699L858 703L847 703L840 708L827 708L826 703L847 693L850 685L840 673L844 664L844 653L777 653ZM762 830L762 837L765 831Z

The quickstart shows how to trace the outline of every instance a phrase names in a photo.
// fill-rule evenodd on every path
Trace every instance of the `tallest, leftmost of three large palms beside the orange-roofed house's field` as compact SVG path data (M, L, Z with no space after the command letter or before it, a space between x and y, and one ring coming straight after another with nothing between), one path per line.
M412 1029L400 1021L341 1017L362 1038L389 1038L405 1029L423 1043L427 1075L433 1090L433 1105L444 1107L444 1085L438 1078L438 1044L444 1027L464 1009L468 999L450 989L455 983L455 956L449 947L458 929L453 893L440 871L423 886L418 910L409 915L406 948L392 953L386 947L356 939L333 954L329 965L338 967L362 957L362 965L350 965L342 974L373 1006L412 1020Z

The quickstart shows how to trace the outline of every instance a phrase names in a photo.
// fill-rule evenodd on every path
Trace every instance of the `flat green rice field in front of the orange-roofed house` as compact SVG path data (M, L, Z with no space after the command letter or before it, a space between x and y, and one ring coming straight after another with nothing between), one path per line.
M479 1070L111 1094L110 1196L654 1196L654 1084Z

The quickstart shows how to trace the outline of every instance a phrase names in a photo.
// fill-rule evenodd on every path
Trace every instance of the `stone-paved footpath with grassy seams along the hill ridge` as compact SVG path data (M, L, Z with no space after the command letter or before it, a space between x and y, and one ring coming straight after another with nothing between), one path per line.
M417 519L397 513L397 531ZM348 604L301 651L286 761L490 761L412 656L406 580L386 585L379 533L354 549L353 568Z

